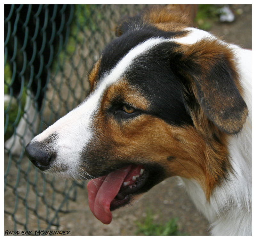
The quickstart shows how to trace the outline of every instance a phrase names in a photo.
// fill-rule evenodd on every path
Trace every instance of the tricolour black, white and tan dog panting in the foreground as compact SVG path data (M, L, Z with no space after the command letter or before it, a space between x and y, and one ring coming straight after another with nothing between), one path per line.
M177 5L123 19L91 90L26 146L46 173L92 178L111 211L178 176L212 235L251 235L251 51L191 26Z

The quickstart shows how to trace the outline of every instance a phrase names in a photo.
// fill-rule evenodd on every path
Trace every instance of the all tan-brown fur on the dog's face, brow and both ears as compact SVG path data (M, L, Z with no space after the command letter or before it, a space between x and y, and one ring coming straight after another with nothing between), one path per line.
M192 18L188 17L189 12L196 12L194 5L190 5L188 10L182 14L180 10L183 7L185 6L156 7L144 11L142 15L146 22L161 30L178 31L190 26L195 17L193 14ZM117 35L121 34L117 31ZM214 86L209 85L209 81L207 81L207 72L214 64L218 63L219 59L224 57L230 69L233 70L231 74L239 92L242 92L238 74L234 70L233 55L226 46L217 41L202 40L192 46L183 45L177 48L177 52L183 53L184 59L181 61L192 59L204 70L202 72L205 75L202 73L198 76L198 81L201 81L199 85L202 86L204 98L211 99L214 103L213 109L206 110L212 111L213 116L218 116L223 104L226 108L236 104L235 98L219 94L219 90L214 89ZM222 53L221 56L220 53ZM99 63L100 61L96 63L90 74L91 86L97 78ZM122 96L125 101L143 110L147 110L150 106L145 97L123 79L118 84L110 86L103 97L101 111L94 121L94 129L97 130L97 144L92 144L93 151L94 155L97 153L100 158L108 149L108 159L111 159L111 163L107 161L105 164L109 164L109 166L120 164L122 159L134 161L134 164L156 162L164 167L165 177L181 176L198 181L209 200L214 188L220 184L223 178L227 177L227 171L232 171L228 161L228 134L220 131L206 116L205 109L200 106L200 96L193 74L182 72L182 70L180 74L184 75L190 82L188 89L184 89L185 99L188 91L187 94L192 94L197 102L191 106L188 105L194 127L172 126L164 120L150 115L140 115L121 122L118 122L111 115L106 115L106 109L111 106L111 101L117 96ZM216 117L214 120L220 125L228 125L228 127L230 123L229 128L234 127L234 122L231 123L231 121L236 121L238 128L240 128L247 112L248 110L244 109L237 119L223 120ZM90 168L90 166L87 167Z

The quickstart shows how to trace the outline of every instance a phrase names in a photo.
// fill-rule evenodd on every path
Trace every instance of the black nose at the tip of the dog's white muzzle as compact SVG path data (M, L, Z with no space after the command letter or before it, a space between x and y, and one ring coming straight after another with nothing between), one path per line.
M51 155L47 153L40 142L30 142L25 152L29 160L40 170L44 171L50 167Z

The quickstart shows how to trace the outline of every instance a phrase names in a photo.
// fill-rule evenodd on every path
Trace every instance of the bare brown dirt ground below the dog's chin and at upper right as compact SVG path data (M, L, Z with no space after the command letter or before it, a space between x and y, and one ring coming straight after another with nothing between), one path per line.
M252 6L232 5L231 9L236 13L234 22L212 22L208 31L222 36L225 41L252 49ZM179 230L184 234L209 235L207 220L196 210L176 178L156 185L136 204L115 210L109 225L102 224L91 213L87 191L81 188L77 191L77 201L70 202L69 206L75 212L63 214L60 219L60 229L69 230L71 235L135 235L135 221L143 219L148 209L152 210L154 220L162 224L177 217ZM5 220L5 229L8 228L8 221Z

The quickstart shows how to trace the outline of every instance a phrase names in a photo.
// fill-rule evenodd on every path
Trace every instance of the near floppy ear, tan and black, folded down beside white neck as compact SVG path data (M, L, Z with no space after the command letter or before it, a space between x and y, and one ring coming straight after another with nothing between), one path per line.
M202 40L182 47L180 69L205 115L222 131L241 130L248 109L241 96L231 50L217 40ZM240 88L240 89L239 89Z

